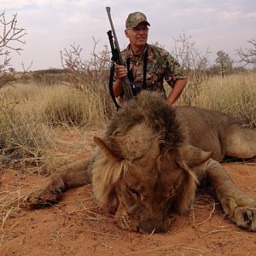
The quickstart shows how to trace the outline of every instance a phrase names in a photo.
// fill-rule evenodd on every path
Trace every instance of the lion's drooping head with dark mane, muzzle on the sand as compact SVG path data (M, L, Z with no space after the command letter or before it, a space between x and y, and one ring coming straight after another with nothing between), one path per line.
M92 171L96 200L116 210L124 230L165 231L171 211L186 211L195 197L192 167L210 153L188 143L182 120L157 94L142 93L112 119Z

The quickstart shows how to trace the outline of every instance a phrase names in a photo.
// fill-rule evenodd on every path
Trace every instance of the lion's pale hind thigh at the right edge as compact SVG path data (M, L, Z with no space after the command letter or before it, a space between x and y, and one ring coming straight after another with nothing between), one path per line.
M224 134L224 148L227 156L256 157L256 130L239 124L230 125Z

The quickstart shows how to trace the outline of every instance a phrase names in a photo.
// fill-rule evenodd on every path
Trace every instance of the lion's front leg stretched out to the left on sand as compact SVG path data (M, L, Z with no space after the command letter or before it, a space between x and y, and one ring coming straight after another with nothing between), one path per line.
M29 208L44 207L59 200L63 191L91 183L91 158L76 161L54 172L39 188L27 195L25 204Z

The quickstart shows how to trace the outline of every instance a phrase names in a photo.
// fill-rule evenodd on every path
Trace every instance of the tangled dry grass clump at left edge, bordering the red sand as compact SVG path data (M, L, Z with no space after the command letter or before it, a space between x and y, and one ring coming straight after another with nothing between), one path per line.
M54 148L49 127L32 111L5 108L0 113L0 160L39 164L46 159L46 148Z

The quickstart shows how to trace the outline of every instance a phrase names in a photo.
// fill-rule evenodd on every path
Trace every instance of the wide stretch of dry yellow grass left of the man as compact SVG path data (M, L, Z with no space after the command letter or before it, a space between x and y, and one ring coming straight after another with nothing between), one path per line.
M2 162L42 164L57 151L53 127L99 129L113 110L95 90L78 92L61 84L15 84L1 90L0 96L3 98L0 103Z

